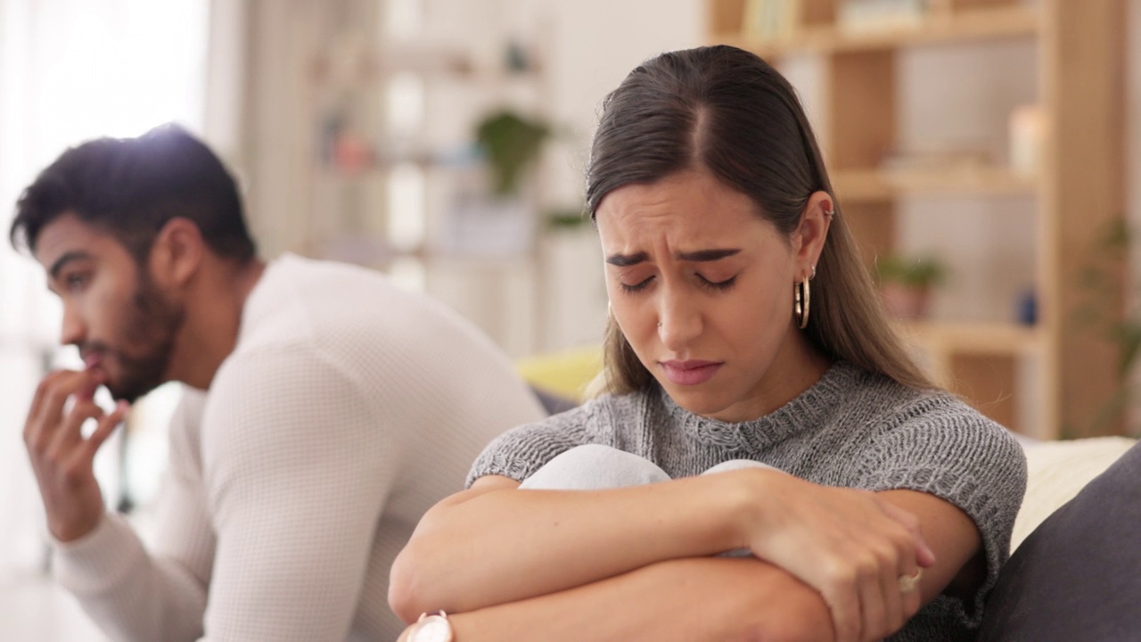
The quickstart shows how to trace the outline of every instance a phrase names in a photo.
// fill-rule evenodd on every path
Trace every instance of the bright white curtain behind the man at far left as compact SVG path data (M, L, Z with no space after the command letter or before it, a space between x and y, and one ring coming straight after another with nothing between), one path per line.
M42 271L7 243L15 201L79 142L168 121L202 133L210 5L0 0L0 579L43 564L42 508L21 433L43 369L75 359L55 347L59 308ZM103 450L97 467L112 478L114 444Z

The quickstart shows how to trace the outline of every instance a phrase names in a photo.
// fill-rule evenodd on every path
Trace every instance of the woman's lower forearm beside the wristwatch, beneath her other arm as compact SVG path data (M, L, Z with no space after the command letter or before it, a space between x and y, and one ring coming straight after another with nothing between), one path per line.
M819 594L754 559L659 562L578 588L448 619L458 642L833 640Z

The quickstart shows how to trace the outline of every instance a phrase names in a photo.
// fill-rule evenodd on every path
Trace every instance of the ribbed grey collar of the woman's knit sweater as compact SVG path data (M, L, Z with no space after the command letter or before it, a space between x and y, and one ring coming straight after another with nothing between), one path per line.
M763 452L782 441L819 427L845 392L853 387L860 369L847 362L834 363L807 391L772 412L748 422L729 423L695 415L678 406L661 386L657 394L666 414L689 439L722 448Z

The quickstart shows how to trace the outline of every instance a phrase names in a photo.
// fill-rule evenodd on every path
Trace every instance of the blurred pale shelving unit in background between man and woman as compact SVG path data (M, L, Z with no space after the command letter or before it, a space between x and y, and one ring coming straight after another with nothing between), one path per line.
M516 41L521 62L512 67L507 40L493 53L438 34L394 35L385 33L385 2L338 6L338 19L307 63L313 136L299 193L311 214L305 246L294 250L387 271L474 321L511 356L540 350L542 172L511 202L521 214L516 218L526 218L511 230L521 232L469 234L456 222L483 207L461 212L461 194L488 191L474 125L502 107L539 118L549 112L542 34ZM394 98L402 83L413 88L412 110ZM394 117L402 110L416 118ZM411 179L402 184L402 174Z

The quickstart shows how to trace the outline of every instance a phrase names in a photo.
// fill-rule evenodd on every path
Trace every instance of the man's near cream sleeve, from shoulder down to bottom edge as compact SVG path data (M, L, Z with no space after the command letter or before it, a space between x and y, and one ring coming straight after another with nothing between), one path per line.
M399 462L372 399L309 346L219 371L202 428L218 539L205 640L346 639Z

